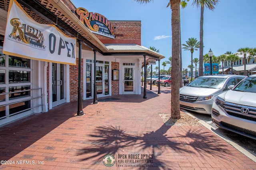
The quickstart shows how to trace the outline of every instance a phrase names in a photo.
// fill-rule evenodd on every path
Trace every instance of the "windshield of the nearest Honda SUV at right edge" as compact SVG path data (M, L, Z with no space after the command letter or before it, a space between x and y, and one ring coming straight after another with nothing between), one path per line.
M256 77L247 77L233 90L256 93Z

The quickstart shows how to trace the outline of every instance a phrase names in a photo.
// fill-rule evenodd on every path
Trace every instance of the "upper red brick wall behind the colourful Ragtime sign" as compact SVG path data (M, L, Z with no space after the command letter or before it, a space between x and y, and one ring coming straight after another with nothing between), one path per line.
M110 22L114 26L115 39L94 34L102 43L135 43L141 45L141 21L110 20Z

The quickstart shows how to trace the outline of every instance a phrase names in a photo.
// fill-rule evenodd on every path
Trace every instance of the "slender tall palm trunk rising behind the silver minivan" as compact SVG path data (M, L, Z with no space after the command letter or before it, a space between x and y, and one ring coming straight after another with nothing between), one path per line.
M203 56L204 56L204 29L203 29L203 24L204 24L204 7L201 6L201 16L200 16L200 47L199 47L199 71L198 71L198 76L203 76L204 75L204 61L203 61Z

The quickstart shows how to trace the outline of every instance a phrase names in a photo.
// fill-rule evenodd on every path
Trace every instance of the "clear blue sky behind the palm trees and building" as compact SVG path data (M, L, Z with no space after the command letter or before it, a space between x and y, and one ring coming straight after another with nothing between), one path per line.
M200 41L200 8L192 1L181 10L181 41L188 38ZM140 4L133 0L72 0L78 7L97 12L108 20L140 20L141 45L155 47L166 58L172 56L171 10L168 0L154 0ZM256 47L256 0L220 0L214 11L204 10L204 54L211 48L215 56L226 51L237 52L239 48ZM199 58L199 49L193 58ZM191 64L190 51L182 49L182 68ZM169 68L169 64L165 70Z

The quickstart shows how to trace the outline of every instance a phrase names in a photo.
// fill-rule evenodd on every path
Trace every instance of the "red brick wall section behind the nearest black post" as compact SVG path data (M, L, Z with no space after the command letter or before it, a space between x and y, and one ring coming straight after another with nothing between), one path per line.
M70 65L70 102L78 100L78 58L76 58L76 65ZM81 88L83 98L83 59L81 60Z

